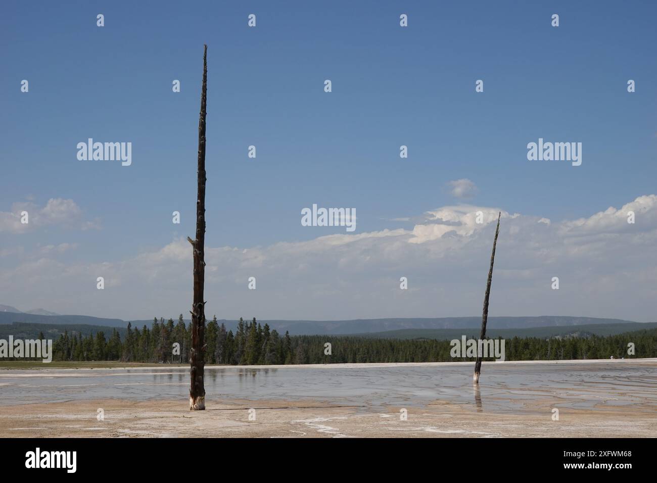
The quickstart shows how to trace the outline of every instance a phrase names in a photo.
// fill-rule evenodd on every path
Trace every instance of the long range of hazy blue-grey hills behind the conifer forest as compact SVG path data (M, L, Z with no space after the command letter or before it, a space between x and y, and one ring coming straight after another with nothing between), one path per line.
M13 309L15 311L10 311ZM152 319L124 321L122 319L105 319L89 315L52 315L53 312L38 309L30 312L17 311L11 306L0 305L0 325L14 322L37 323L48 325L98 325L103 327L120 327L125 329L128 322L133 327L150 327ZM159 317L158 317L159 318ZM167 320L169 317L165 317ZM245 320L247 318L245 317ZM177 321L177 317L173 317ZM224 323L227 329L235 331L237 321L217 320ZM189 320L185 320L189 323ZM481 317L436 317L436 318L388 318L388 319L354 319L342 321L311 321L311 320L260 320L263 325L269 324L283 334L289 331L292 335L302 334L372 334L388 331L405 331L409 329L478 329L481 327ZM559 315L541 315L539 317L488 317L487 327L493 329L531 329L533 327L566 327L578 325L608 325L625 324L632 321L622 319L601 319L597 317L567 317ZM636 323L635 323L636 324ZM647 326L646 326L647 327ZM635 330L634 328L632 330Z

